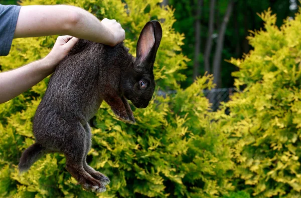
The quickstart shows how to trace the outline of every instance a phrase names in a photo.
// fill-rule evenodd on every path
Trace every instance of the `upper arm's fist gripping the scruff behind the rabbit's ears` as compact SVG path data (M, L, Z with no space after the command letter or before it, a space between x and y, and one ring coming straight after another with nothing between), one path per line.
M104 44L115 46L125 39L125 31L122 29L121 25L116 22L116 20L109 20L105 18L101 21L101 24L104 25L104 27L108 31L108 34L111 35L111 39L109 39L109 41Z

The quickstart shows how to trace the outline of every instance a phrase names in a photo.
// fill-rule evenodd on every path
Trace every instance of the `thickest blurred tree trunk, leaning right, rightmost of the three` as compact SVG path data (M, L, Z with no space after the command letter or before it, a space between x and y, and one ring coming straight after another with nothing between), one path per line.
M222 25L219 30L218 34L218 40L217 40L217 45L214 53L214 61L213 61L213 76L214 80L213 82L216 84L217 88L221 87L221 58L222 58L222 51L223 51L223 45L224 45L224 38L225 38L225 32L226 28L229 22L229 18L232 13L234 1L230 0L226 14L224 16Z

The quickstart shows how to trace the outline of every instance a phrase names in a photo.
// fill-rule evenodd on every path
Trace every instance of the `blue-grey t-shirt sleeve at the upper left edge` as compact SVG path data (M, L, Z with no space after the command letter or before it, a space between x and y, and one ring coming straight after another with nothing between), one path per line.
M11 50L20 9L0 4L0 56L7 56Z

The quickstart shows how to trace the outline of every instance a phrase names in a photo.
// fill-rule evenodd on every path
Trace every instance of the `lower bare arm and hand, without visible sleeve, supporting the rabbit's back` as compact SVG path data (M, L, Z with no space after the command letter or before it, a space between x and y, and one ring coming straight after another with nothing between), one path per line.
M43 59L0 73L0 104L18 96L50 75L77 42L71 36L58 37L52 51Z

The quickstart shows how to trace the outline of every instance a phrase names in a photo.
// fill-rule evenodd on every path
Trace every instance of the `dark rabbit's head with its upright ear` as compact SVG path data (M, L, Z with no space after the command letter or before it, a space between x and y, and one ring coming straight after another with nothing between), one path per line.
M154 62L162 38L158 21L147 22L138 42L136 59L121 79L121 91L135 107L147 107L155 91Z

